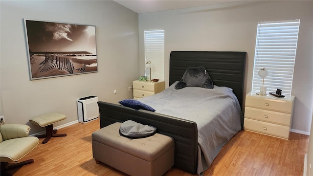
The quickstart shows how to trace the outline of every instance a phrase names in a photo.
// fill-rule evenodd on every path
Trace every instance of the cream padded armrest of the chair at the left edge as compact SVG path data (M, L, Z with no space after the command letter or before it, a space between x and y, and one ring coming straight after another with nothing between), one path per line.
M28 125L22 124L4 124L0 126L0 132L3 140L18 138L18 137L27 137L30 131Z

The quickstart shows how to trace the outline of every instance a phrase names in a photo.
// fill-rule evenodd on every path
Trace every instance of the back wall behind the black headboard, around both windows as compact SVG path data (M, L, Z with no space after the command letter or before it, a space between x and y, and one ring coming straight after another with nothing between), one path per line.
M165 81L171 51L246 51L245 93L251 91L257 23L301 19L292 94L292 129L309 134L313 94L313 1L238 1L139 14L139 66L144 74L145 29L165 28ZM167 85L168 86L168 85ZM310 97L310 98L308 98Z

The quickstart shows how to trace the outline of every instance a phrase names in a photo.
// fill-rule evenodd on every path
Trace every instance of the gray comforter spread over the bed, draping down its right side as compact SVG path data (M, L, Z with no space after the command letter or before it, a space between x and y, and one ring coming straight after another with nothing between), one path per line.
M241 108L230 88L186 87L164 91L139 99L158 113L197 123L198 175L208 169L222 147L241 130Z

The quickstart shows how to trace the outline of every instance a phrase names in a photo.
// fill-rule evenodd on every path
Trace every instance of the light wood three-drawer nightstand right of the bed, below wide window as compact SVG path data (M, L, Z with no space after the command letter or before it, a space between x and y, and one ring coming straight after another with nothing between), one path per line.
M247 131L289 139L294 96L246 94L245 123Z

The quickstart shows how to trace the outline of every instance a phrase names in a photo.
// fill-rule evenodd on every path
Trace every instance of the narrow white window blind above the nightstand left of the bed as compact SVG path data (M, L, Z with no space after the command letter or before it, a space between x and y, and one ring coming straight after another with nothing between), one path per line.
M145 30L145 63L151 62L151 79L164 80L164 29ZM149 77L149 69L146 76Z

